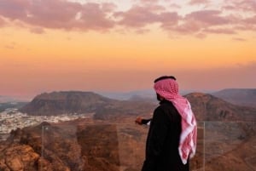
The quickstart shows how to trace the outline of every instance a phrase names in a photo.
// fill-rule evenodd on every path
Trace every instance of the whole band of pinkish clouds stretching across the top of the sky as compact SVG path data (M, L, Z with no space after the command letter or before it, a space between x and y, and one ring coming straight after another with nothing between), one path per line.
M30 31L39 34L44 32L44 28L67 31L111 31L122 28L124 31L134 29L137 33L143 33L150 31L146 26L159 24L168 33L191 34L195 37L238 34L238 31L255 31L256 27L254 0L226 0L218 3L218 7L210 0L190 0L186 4L164 0L131 2L133 5L130 9L121 10L117 6L120 3L115 4L114 1L2 0L0 26L5 21L21 21L31 26Z

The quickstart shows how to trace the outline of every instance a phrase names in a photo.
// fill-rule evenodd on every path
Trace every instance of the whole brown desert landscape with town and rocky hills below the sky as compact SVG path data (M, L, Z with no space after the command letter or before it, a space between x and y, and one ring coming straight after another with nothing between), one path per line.
M256 170L256 90L236 90L250 91L243 102L234 91L185 95L198 122L192 171ZM20 128L2 131L0 170L139 171L148 127L134 121L152 117L157 105L156 100L114 100L78 91L39 94L16 110L10 108L17 104L10 105L0 114L1 125L19 123Z

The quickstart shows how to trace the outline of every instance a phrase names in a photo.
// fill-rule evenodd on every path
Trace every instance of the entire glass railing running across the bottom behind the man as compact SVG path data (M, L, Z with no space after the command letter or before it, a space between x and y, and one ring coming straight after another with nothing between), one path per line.
M32 127L19 128L20 125L7 124L12 121L10 118L1 119L2 134L6 128L15 131L5 133L9 138L0 141L0 170L23 167L26 171L140 171L142 168L148 127L135 123L38 121ZM197 151L190 160L190 170L256 170L256 123L199 122Z

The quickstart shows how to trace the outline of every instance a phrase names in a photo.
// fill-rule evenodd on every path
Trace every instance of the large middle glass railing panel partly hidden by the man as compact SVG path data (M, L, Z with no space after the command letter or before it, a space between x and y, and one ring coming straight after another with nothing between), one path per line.
M191 160L191 170L203 170L203 123L200 123L198 152ZM140 171L148 127L136 124L94 123L60 125L45 123L41 170L70 169L98 171ZM55 158L55 162L53 162Z

